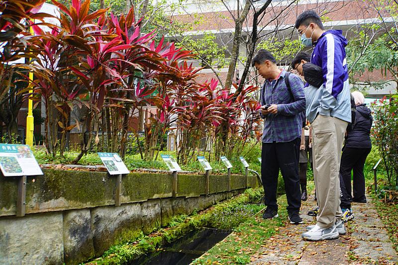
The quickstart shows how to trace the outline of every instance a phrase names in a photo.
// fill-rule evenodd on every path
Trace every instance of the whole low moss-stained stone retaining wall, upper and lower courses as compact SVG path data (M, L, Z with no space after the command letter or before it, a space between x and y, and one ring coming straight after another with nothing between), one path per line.
M0 264L79 264L111 245L166 226L246 188L246 177L132 173L122 178L121 206L114 206L116 177L101 172L45 170L28 177L26 215L15 217L16 177L0 177ZM249 187L258 185L248 177Z

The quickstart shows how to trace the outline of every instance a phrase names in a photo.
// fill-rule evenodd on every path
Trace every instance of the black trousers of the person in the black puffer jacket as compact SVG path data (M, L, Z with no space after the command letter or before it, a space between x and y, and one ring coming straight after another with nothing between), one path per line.
M353 171L353 187L355 200L365 200L364 166L372 148L344 148L340 163L341 208L351 208L351 171Z

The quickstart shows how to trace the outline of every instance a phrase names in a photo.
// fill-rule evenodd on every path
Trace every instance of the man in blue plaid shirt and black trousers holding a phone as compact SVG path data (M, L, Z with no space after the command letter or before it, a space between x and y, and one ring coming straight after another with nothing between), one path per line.
M265 79L261 89L261 116L264 118L261 176L267 209L264 219L278 217L277 186L279 169L285 181L288 215L292 224L302 224L298 154L305 97L301 79L276 65L274 56L261 49L252 66ZM288 88L287 84L290 84Z

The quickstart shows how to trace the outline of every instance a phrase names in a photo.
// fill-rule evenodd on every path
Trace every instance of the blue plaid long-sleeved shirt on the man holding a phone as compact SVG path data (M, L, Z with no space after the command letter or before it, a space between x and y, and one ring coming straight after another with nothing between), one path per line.
M304 84L298 76L290 74L293 100L285 83L285 75L286 71L283 70L278 84L278 80L266 80L261 88L261 105L278 105L277 114L261 114L265 119L263 143L286 143L301 137L302 121L299 113L305 110Z

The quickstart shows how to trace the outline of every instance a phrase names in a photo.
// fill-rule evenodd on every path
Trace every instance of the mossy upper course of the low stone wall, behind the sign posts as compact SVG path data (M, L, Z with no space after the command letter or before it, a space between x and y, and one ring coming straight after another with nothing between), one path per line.
M104 172L44 170L44 176L27 177L26 213L84 209L114 204L116 177ZM0 216L16 211L18 177L0 177ZM177 197L205 194L204 175L178 175ZM249 186L257 186L249 177ZM231 176L231 190L245 188L246 177ZM210 193L228 190L227 176L210 176ZM131 173L122 178L121 203L168 198L173 194L170 174Z

